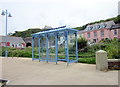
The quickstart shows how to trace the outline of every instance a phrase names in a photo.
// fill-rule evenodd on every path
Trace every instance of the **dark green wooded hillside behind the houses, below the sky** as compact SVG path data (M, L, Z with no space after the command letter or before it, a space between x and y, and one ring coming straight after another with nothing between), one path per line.
M101 22L106 22L106 21L111 21L111 20L113 20L115 23L120 23L120 15L118 15L117 17L106 19L106 20L91 22L91 23L85 24L80 27L75 27L74 29L84 30L86 26L89 24L101 23ZM47 29L33 28L33 29L25 30L25 31L16 31L15 33L12 34L12 36L22 37L22 38L31 37L31 34L44 31L44 30L47 30Z

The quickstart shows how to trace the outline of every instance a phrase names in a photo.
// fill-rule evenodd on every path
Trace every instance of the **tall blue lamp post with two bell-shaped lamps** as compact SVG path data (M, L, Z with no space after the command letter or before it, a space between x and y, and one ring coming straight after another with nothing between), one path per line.
M5 46L6 46L6 51L5 51L5 57L8 57L8 50L7 50L7 40L8 40L8 37L7 37L7 17L12 17L11 14L7 11L7 9L5 11L2 11L2 14L1 15L6 15L6 42L5 42Z

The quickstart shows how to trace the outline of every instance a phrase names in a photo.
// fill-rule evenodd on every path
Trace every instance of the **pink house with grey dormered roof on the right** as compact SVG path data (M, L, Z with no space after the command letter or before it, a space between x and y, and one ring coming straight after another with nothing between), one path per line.
M120 25L115 24L114 21L96 23L88 25L82 31L83 37L88 40L88 43L97 43L102 39L120 38Z

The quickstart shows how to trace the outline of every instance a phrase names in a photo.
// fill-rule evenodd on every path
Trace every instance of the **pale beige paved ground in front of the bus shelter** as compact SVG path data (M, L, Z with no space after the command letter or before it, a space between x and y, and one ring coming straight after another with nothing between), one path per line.
M98 71L93 64L46 63L23 58L0 58L9 85L118 85L118 71Z

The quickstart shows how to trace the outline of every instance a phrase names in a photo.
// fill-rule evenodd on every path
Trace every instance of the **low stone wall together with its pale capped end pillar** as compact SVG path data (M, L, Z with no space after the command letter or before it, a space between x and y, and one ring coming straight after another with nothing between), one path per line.
M120 59L108 59L107 52L99 50L96 52L96 69L101 71L120 70Z

